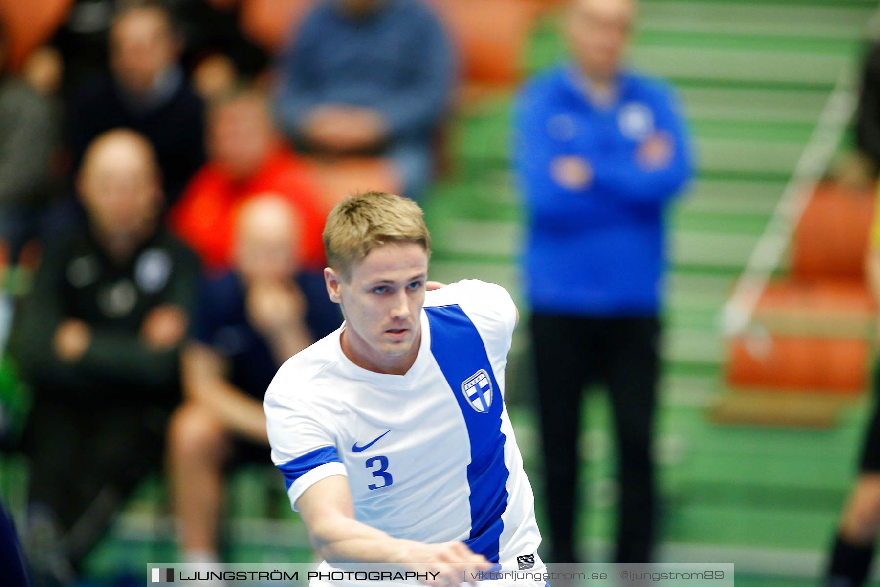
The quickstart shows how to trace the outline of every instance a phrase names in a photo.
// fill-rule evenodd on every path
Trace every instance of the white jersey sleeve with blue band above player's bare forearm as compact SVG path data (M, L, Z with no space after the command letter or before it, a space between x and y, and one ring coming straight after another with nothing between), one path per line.
M332 477L345 475L336 451L334 434L321 417L319 407L299 397L273 393L273 387L281 385L275 377L269 386L263 409L269 444L272 446L272 462L284 475L284 485L290 497L290 507L297 510L297 499L313 484Z

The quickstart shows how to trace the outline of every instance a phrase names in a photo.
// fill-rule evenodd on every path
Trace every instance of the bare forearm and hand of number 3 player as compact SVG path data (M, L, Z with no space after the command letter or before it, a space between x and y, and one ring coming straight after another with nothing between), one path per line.
M463 542L424 544L392 538L355 519L348 479L326 477L307 488L296 503L312 547L328 562L400 563L418 572L438 573L429 583L461 583L463 573L487 570L491 564Z

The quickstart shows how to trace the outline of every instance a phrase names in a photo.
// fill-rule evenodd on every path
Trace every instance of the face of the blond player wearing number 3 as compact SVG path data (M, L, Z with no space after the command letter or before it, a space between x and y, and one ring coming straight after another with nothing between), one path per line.
M331 270L332 271L332 270ZM346 319L343 349L380 371L418 353L428 254L415 243L377 246L351 268L348 281L328 279ZM346 340L347 338L347 340Z

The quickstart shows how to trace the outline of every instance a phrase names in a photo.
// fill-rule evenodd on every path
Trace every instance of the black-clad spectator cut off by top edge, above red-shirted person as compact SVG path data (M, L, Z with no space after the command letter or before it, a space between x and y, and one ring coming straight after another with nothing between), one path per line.
M183 64L202 96L213 96L238 77L253 79L268 55L241 30L241 0L173 0L185 40Z

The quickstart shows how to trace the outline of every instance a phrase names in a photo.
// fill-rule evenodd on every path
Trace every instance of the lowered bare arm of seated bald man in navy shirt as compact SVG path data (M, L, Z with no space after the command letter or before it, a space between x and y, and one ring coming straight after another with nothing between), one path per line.
M229 383L222 356L202 343L190 342L183 350L181 363L187 399L209 407L231 430L256 442L268 443L266 415L260 401Z

